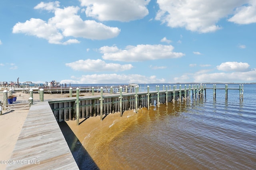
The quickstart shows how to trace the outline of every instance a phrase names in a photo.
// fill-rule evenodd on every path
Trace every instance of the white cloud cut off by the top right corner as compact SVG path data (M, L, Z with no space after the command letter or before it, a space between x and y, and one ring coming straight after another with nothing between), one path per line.
M228 21L238 24L256 23L256 1L250 1L252 4L236 8L235 15Z

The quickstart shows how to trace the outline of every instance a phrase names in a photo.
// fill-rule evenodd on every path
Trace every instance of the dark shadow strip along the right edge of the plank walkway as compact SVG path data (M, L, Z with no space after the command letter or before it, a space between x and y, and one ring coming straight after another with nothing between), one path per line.
M99 170L98 166L92 160L91 156L84 149L76 135L70 129L66 122L59 122L60 129L68 143L76 164L80 170Z

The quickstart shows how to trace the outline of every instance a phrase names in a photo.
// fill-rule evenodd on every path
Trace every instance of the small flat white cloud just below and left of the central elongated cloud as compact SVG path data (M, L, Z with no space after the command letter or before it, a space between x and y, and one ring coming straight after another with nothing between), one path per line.
M130 70L133 66L132 64L115 64L115 63L105 63L100 59L97 60L78 60L72 63L66 63L66 66L71 67L73 70L81 70L81 71L124 71Z

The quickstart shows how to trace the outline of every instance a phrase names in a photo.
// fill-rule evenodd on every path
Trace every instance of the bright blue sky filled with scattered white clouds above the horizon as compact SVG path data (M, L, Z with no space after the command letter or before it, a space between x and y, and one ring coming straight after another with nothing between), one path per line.
M256 82L255 0L2 0L0 23L0 81Z

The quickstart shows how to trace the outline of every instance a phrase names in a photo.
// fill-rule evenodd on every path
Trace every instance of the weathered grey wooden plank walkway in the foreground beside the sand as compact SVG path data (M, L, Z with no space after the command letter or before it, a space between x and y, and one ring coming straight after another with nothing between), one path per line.
M6 170L79 170L48 102L28 112Z

